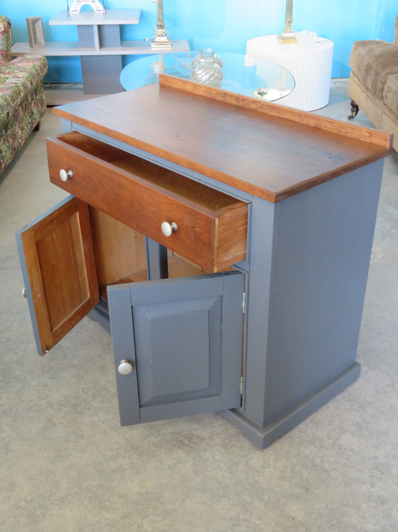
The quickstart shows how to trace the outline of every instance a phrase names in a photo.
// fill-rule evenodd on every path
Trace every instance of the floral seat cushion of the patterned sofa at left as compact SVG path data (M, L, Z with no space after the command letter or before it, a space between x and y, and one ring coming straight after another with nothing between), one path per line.
M0 64L0 122L13 114L29 90L41 83L47 60L41 55L21 55Z

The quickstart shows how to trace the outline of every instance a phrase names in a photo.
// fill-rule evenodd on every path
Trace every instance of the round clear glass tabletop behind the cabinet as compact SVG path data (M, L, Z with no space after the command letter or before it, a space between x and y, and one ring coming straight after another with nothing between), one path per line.
M158 82L159 72L191 79L193 60L198 52L150 55L126 65L120 73L120 84L133 90ZM252 55L219 53L222 80L219 88L233 93L274 102L295 88L291 73L278 63Z

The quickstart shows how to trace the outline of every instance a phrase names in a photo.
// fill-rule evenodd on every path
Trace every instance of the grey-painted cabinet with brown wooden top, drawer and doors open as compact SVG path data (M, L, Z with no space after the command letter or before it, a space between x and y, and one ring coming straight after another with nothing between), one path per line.
M90 313L122 425L213 411L261 448L358 378L391 135L165 74L54 112L72 196L16 235L40 354Z

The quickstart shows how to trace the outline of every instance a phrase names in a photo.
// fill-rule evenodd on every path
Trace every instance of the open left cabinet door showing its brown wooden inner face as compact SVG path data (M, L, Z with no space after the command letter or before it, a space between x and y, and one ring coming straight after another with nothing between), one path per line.
M37 348L45 354L99 302L88 206L70 196L16 240Z

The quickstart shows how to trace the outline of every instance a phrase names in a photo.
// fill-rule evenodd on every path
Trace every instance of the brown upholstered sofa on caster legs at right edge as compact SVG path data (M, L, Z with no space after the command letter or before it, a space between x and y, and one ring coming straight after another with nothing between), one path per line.
M377 129L394 134L398 151L398 15L393 43L359 40L352 46L350 66L351 116L363 111Z

